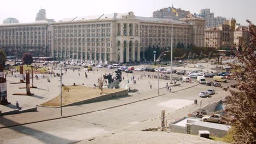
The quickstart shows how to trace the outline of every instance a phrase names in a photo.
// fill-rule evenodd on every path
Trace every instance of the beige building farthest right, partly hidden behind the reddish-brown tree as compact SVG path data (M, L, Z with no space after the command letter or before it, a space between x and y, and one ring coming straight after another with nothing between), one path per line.
M234 45L238 47L241 43L249 44L249 32L245 26L239 26L234 31Z

